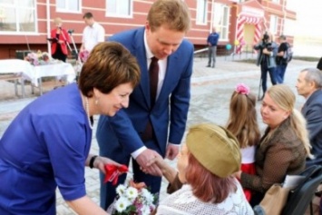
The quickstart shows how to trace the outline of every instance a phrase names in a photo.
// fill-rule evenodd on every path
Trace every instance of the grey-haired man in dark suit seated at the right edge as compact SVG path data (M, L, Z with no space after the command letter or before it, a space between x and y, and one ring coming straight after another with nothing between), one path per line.
M303 105L302 114L307 120L309 141L315 159L307 159L307 166L322 165L322 71L307 68L298 75L297 90L307 102Z

